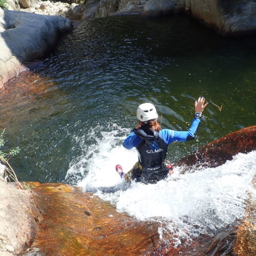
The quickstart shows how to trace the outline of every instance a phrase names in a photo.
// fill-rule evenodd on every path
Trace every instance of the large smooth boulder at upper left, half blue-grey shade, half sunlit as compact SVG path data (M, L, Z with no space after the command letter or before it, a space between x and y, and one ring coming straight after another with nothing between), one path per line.
M0 8L0 88L27 69L24 62L42 57L54 46L59 34L71 29L71 20L61 16Z

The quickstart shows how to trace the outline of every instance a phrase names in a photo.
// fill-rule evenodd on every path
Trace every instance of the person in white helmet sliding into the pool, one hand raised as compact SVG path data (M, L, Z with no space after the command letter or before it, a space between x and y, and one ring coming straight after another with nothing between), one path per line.
M206 108L204 97L195 101L195 115L188 131L173 131L161 129L158 114L152 103L138 106L138 124L124 140L123 146L130 150L136 147L138 162L125 174L121 165L116 165L116 171L126 181L131 179L143 183L156 183L172 173L172 164L166 161L168 145L175 141L195 139L201 122L202 112Z

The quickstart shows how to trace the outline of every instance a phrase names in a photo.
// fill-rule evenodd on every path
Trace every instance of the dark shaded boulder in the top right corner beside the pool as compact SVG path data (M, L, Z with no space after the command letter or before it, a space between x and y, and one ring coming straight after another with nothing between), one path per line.
M256 33L254 0L186 0L186 11L226 36Z

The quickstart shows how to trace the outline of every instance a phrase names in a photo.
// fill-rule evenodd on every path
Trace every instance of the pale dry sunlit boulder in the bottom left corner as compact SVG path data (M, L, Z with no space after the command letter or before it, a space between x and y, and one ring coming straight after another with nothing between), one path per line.
M31 191L0 180L0 255L23 254L33 243L37 222L42 219L30 199Z

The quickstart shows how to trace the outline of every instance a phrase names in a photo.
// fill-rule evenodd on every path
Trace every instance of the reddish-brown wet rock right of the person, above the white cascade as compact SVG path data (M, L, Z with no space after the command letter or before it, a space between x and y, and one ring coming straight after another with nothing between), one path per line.
M182 158L178 166L216 167L232 160L238 153L256 150L256 125L230 133Z

